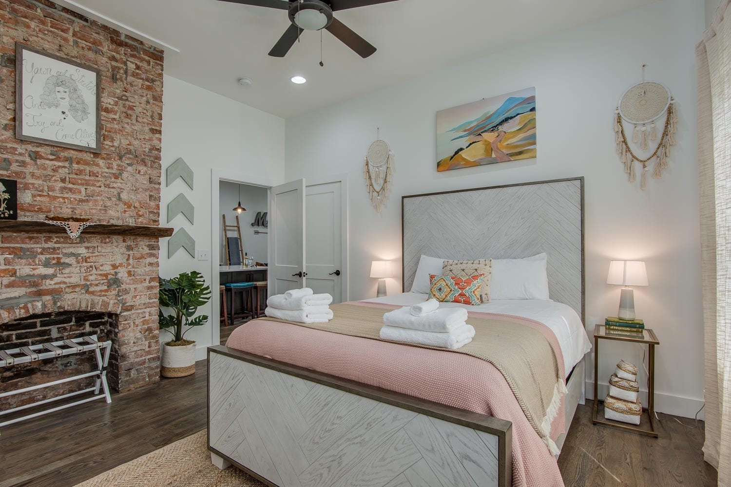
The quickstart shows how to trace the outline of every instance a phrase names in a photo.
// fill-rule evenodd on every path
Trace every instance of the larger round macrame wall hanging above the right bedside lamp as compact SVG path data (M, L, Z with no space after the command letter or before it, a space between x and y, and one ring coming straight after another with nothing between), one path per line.
M670 91L660 83L645 82L645 66L643 64L642 83L632 86L624 92L619 100L619 106L614 112L614 132L616 135L617 153L624 172L629 175L629 182L637 180L635 172L635 161L642 164L641 188L647 187L647 173L650 168L648 162L655 159L652 169L652 177L659 179L662 172L667 169L667 159L670 157L670 146L675 145L675 129L678 123L678 115L675 113L675 99ZM663 120L664 118L664 120ZM663 123L662 134L658 140L656 122ZM625 124L632 125L632 139L626 134ZM633 150L630 140L635 145ZM642 157L635 152L637 147L646 156L649 153L650 145L656 148L650 156Z

